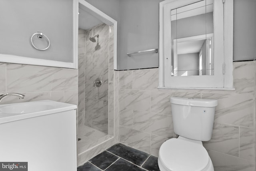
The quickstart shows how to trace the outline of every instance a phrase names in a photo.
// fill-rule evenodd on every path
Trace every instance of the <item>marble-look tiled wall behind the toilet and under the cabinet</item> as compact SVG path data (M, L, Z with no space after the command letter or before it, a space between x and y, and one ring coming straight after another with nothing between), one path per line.
M158 156L174 136L170 97L217 99L212 139L204 147L215 171L255 171L256 62L234 62L235 91L157 89L158 68L118 72L119 141Z

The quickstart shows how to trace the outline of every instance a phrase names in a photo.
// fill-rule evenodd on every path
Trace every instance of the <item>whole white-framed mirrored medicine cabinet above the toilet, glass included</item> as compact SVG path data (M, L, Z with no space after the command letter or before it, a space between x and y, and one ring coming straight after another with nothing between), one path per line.
M160 2L159 87L233 89L233 0Z

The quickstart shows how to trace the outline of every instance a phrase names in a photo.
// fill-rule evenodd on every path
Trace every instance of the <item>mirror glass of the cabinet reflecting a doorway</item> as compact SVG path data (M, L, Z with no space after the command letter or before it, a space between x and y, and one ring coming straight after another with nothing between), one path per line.
M171 10L172 76L213 75L213 0Z

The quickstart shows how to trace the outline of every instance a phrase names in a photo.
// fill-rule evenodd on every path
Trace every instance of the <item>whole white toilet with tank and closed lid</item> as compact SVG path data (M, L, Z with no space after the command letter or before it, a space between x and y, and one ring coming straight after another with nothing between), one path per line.
M212 137L217 100L171 97L174 132L158 156L160 171L214 171L202 141Z

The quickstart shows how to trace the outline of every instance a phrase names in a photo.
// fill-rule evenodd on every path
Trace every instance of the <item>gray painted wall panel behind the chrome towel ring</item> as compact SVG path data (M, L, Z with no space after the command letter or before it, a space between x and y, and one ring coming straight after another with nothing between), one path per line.
M72 0L1 0L0 54L73 62ZM32 34L40 31L51 42L46 51L32 47ZM35 45L46 48L44 38Z

